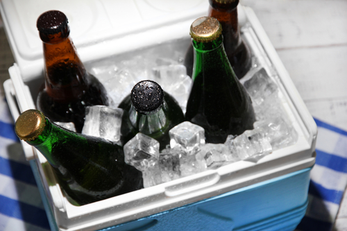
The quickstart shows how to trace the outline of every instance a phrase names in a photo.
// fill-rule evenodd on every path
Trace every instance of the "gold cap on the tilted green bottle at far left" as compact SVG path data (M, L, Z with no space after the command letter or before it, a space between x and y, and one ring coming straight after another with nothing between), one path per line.
M26 110L19 115L15 123L15 132L19 139L31 141L36 139L44 130L46 118L38 110Z

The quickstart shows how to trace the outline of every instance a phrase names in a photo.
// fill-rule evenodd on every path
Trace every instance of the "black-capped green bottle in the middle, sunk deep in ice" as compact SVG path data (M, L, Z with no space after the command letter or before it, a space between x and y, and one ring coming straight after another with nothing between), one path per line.
M124 110L121 124L123 144L141 132L158 140L162 150L170 143L169 130L185 120L174 97L151 80L137 83L119 108Z

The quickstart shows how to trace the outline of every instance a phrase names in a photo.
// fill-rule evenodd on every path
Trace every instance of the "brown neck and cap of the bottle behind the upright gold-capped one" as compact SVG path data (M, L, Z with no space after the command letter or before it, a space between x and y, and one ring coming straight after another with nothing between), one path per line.
M233 3L218 3L210 0L208 16L218 19L223 28L224 48L226 52L234 51L241 43L239 34L239 22L237 18L237 5L239 1Z

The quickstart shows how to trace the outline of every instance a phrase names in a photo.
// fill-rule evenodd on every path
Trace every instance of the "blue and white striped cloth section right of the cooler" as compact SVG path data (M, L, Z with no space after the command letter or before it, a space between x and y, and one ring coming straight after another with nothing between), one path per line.
M315 119L316 164L311 171L309 205L302 231L330 231L347 185L347 132Z

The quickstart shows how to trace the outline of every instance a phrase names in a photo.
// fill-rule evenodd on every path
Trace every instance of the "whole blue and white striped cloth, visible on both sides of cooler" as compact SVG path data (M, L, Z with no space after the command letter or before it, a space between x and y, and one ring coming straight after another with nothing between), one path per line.
M347 132L319 120L316 124L316 164L307 212L297 228L301 231L332 230L347 183ZM49 230L49 222L6 99L0 96L0 231L13 230Z

